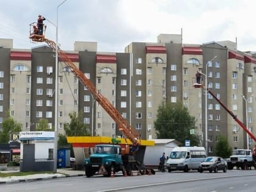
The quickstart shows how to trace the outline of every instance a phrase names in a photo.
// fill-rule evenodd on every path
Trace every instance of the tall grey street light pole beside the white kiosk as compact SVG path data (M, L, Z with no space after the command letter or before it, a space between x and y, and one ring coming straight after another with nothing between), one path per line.
M66 0L65 0L66 1ZM58 10L60 5L65 1L62 1L57 6L57 17L56 17L56 48L55 48L55 122L54 122L54 172L57 172L57 148L58 148L58 96L59 96L59 48L58 48Z

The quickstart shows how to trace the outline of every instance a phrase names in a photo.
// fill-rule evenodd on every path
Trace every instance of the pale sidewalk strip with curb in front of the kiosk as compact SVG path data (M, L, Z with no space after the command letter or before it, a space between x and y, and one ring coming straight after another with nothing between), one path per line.
M20 169L9 169L7 171L0 171L1 173L11 173L19 172ZM71 168L57 169L57 173L43 173L43 174L32 174L27 176L10 176L10 177L0 177L0 184L3 183L18 183L18 182L30 182L35 180L46 180L46 179L57 179L62 177L77 177L85 176L84 170L74 170Z

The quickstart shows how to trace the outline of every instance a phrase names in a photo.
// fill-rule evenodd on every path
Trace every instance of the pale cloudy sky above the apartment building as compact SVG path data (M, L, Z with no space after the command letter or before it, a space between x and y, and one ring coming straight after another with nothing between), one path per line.
M40 46L28 38L40 14L46 38L56 41L57 28L65 51L93 41L99 52L124 52L132 42L157 43L160 34L182 34L184 44L237 41L238 50L256 51L255 0L63 1L0 0L0 38L12 39L14 49Z

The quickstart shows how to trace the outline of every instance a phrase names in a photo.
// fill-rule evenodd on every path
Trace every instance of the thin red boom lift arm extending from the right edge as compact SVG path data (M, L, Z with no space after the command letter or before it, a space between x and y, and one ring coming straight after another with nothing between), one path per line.
M202 87L202 88L204 88L204 89L206 88L206 90L208 91L208 93L210 93L210 94L213 96L213 98L215 98L216 101L218 101L219 104L221 104L221 106L229 113L229 115L232 116L232 118L236 121L236 123L238 123L238 124L243 128L243 130L246 131L246 132L248 133L248 135L250 135L250 137L251 137L254 141L256 141L256 138L254 137L254 135L252 134L252 132L251 132L249 129L247 129L246 126L244 126L244 124L236 117L236 115L235 115L232 111L230 111L229 108L227 108L227 107L215 96L215 94L214 94L211 90L209 90L208 87L205 87L205 86L202 85L202 84L194 84L193 86L194 86L195 88L199 88L199 87ZM247 110L247 109L246 109L246 110Z

